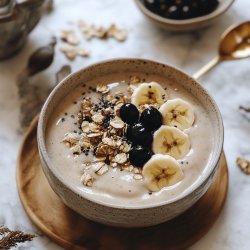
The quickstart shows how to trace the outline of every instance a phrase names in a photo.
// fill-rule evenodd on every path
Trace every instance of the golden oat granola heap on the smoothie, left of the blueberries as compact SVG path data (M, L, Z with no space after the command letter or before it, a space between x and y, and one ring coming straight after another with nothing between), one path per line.
M131 79L128 92L131 93L138 83L139 79ZM110 94L107 85L98 85L95 91L100 93L98 102L93 102L90 97L81 101L77 114L79 132L66 133L63 138L74 155L93 156L83 163L82 184L92 186L96 179L94 175L102 176L110 168L133 172L135 180L142 179L141 169L129 162L131 143L125 137L127 124L119 116L121 106L130 102L130 97L121 92Z

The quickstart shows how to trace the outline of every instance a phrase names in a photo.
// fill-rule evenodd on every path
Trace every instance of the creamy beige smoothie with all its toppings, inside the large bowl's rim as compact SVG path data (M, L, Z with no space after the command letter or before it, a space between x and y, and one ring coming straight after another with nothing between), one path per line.
M79 194L110 206L185 194L206 173L213 144L195 96L154 75L82 83L53 111L46 130L55 171Z

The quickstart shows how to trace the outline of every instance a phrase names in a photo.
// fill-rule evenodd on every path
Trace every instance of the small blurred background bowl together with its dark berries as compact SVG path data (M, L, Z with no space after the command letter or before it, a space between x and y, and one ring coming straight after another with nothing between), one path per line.
M153 23L171 31L190 31L214 23L234 0L135 0Z

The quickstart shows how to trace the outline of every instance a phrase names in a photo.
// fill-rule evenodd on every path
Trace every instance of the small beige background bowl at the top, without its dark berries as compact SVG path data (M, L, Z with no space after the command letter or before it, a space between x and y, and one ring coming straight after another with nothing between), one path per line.
M153 23L170 31L189 31L209 26L223 13L225 13L234 2L234 0L220 0L217 9L210 14L201 17L189 18L186 20L173 20L162 17L148 10L143 4L143 1L144 0L135 0L141 12Z

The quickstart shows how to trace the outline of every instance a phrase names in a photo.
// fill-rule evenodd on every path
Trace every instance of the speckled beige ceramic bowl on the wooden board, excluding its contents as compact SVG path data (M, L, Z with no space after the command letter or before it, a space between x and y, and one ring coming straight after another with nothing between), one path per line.
M46 128L54 108L61 103L63 98L76 86L85 81L97 79L112 74L125 75L158 75L167 81L181 85L192 95L196 96L201 105L206 109L209 119L213 124L214 148L207 166L207 171L202 177L182 194L171 201L161 201L154 205L129 206L115 205L86 198L76 187L69 186L66 179L62 178L53 166L46 150ZM122 81L123 79L120 79ZM49 184L61 197L62 201L81 214L82 216L107 225L120 227L144 227L162 223L183 213L191 207L211 185L223 145L223 124L217 105L204 88L193 78L185 73L165 64L143 59L115 59L94 64L81 69L62 82L52 91L40 114L38 124L38 147L44 173ZM53 208L52 208L53 209Z

